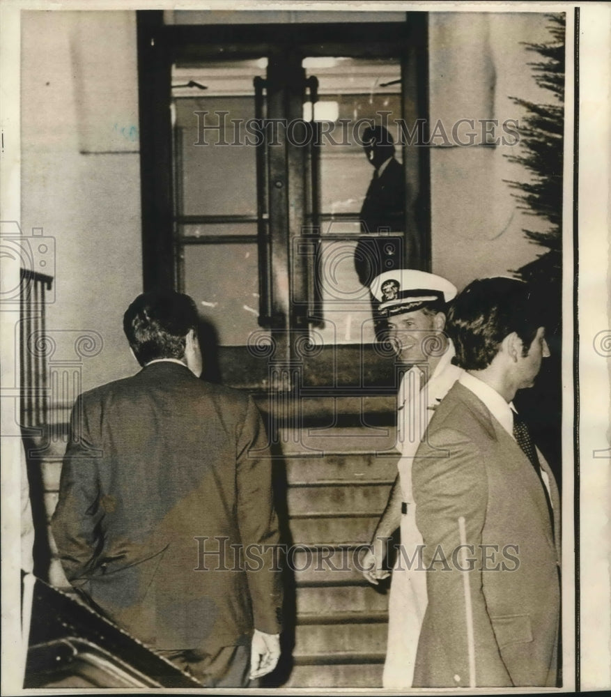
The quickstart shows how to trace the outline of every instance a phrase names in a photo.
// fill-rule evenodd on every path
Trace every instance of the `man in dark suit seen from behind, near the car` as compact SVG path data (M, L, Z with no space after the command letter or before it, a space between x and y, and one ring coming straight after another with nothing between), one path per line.
M143 368L77 399L52 523L63 568L206 687L245 687L276 665L281 629L261 415L199 379L189 296L144 293L123 328Z

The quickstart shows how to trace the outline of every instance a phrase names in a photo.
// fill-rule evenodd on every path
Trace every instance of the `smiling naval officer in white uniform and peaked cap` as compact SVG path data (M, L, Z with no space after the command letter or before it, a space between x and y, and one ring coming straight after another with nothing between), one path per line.
M376 526L371 551L364 558L364 576L378 584L389 574L383 567L387 543L401 528L388 605L388 641L383 687L411 687L418 637L426 611L426 575L410 567L422 537L416 527L412 493L412 463L433 410L456 382L461 368L452 365L454 347L443 329L447 304L456 288L447 279L424 271L387 271L376 278L371 292L387 316L390 337L398 358L409 366L397 399L397 447L401 450L399 475ZM407 555L407 558L406 556Z

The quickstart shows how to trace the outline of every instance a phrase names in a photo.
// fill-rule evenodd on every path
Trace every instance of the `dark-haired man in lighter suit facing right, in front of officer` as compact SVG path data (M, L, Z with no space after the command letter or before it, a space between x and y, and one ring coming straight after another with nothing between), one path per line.
M490 278L454 300L465 373L435 411L412 477L428 608L415 687L555 687L560 504L513 411L549 355L527 284Z

